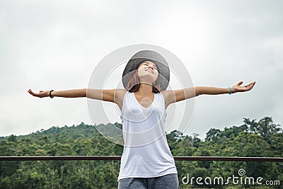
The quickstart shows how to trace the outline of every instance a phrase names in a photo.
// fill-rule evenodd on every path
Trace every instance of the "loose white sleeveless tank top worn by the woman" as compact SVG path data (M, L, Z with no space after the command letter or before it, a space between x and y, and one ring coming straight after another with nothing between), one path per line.
M162 93L154 93L148 108L139 104L134 93L125 93L120 116L125 145L118 181L177 173L164 131L166 116Z

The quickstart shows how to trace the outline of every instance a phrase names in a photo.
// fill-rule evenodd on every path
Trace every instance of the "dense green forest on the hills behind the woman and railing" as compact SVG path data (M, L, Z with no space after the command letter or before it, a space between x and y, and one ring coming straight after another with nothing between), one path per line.
M122 128L115 122L115 127ZM80 125L51 127L23 136L0 137L0 156L121 156L123 147L103 137L96 127ZM122 139L122 132L120 134ZM178 130L166 133L173 156L283 157L283 132L272 118L243 118L240 126L212 128L204 139ZM283 162L175 161L180 188L280 188ZM0 161L0 188L117 188L120 161ZM183 183L185 176L238 176L277 181L277 185Z

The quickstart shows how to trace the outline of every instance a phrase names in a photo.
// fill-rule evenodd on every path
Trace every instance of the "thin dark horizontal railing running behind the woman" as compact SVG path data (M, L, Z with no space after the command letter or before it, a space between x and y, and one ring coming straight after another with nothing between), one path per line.
M282 157L174 156L175 161L274 161ZM121 160L121 156L0 156L0 161Z

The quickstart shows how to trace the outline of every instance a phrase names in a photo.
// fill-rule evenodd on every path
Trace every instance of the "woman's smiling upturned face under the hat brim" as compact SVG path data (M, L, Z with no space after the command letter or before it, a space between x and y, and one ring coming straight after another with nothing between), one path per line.
M139 65L138 76L141 82L153 84L158 77L158 69L154 62L146 60Z

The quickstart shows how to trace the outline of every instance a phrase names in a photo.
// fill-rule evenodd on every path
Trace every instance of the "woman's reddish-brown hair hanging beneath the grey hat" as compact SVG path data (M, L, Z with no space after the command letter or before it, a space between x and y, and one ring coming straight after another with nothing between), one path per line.
M139 81L139 76L137 74L137 71L139 69L139 65L143 62L140 62L139 64L137 64L137 67L135 67L134 70L131 71L131 73L129 73L129 80L128 80L126 90L131 92L131 93L139 90L140 81ZM156 67L157 67L157 65L156 65ZM158 73L159 73L158 67L157 67L157 70L158 70ZM159 74L158 74L156 81L152 85L152 92L159 93L160 90L161 90L161 86L160 86L160 80L159 80Z

